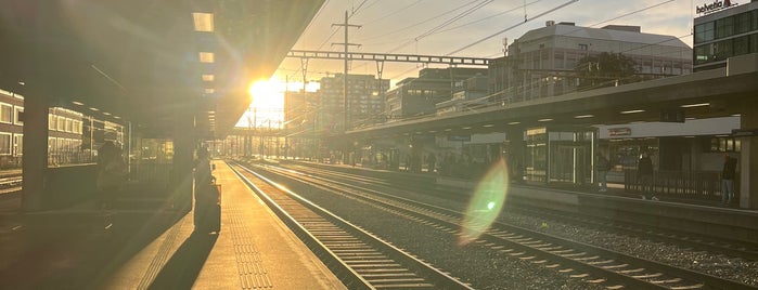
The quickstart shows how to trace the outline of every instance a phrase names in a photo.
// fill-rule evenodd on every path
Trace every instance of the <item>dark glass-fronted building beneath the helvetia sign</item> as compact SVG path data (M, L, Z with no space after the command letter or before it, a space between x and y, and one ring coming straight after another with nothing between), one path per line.
M725 67L731 56L758 52L758 1L740 5L718 2L721 6L712 12L698 8L705 15L694 23L695 71Z

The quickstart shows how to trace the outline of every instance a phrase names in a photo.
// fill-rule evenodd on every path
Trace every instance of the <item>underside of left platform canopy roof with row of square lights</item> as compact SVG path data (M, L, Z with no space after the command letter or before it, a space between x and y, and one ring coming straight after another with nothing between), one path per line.
M323 2L3 0L0 89L153 136L189 115L221 137Z

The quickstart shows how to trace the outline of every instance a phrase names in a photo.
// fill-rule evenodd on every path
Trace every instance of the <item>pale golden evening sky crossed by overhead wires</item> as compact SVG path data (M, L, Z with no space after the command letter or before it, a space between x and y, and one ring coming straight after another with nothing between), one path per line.
M695 6L706 2L712 1L326 0L292 49L344 51L343 45L333 44L345 41L343 27L333 24L344 24L345 12L350 25L360 26L348 30L348 42L360 44L350 45L350 52L492 58L503 55L505 39L510 44L548 21L595 28L634 25L642 32L680 37L692 47ZM273 78L301 83L300 67L299 58L285 58ZM421 68L420 64L386 62L382 78L394 85L417 76ZM342 61L310 60L306 79L318 81L342 72ZM377 75L377 66L375 62L351 62L348 74ZM268 106L280 103L269 102ZM241 122L244 120L245 116Z

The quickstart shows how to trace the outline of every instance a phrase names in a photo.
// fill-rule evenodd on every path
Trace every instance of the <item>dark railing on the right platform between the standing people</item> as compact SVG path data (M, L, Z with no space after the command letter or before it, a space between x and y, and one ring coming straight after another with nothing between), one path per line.
M718 171L666 171L653 173L653 192L658 196L698 200L721 199L721 176ZM642 193L637 170L624 172L624 189L627 193ZM738 198L740 181L734 181L734 196Z

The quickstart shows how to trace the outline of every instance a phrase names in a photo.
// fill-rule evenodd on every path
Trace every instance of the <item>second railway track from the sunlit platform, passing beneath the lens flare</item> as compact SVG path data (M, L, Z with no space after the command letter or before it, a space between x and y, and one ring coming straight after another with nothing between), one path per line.
M462 221L465 215L461 212L387 195L360 185L303 174L293 170L272 167L261 169L347 198L361 200L367 205L452 235L464 235L461 233L465 227L487 227L487 225L476 224L464 225ZM470 238L475 239L477 245L488 247L503 256L529 261L536 266L553 268L591 284L602 284L608 289L755 289L737 281L502 223L493 223L480 236Z

